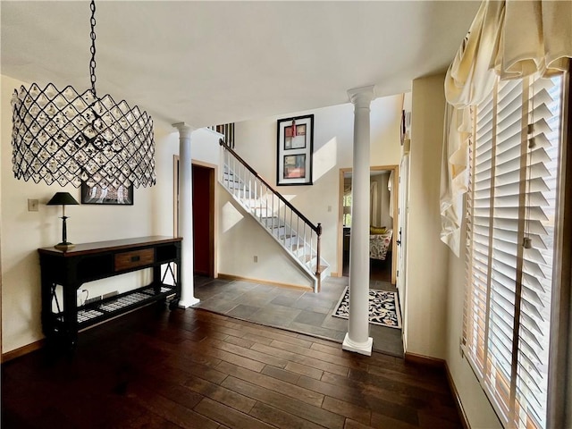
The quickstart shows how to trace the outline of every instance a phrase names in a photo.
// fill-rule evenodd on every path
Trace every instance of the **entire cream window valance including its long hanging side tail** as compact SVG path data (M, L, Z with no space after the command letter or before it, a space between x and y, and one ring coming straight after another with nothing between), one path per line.
M441 240L458 255L461 197L467 190L470 106L497 76L519 79L567 71L572 58L572 1L484 1L445 77Z

